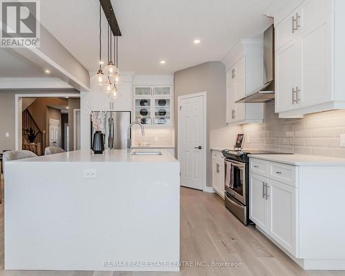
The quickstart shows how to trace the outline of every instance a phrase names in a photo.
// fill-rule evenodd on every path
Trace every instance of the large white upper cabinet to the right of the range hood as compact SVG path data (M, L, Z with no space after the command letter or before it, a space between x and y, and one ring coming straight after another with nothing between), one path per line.
M345 1L301 2L275 17L279 117L345 108L345 39L340 31L345 26Z

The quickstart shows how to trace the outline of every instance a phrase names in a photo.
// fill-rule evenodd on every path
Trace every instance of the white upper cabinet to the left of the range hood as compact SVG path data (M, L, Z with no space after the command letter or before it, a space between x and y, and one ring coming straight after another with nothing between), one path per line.
M262 39L242 39L226 56L226 122L262 123L263 103L236 103L264 83Z

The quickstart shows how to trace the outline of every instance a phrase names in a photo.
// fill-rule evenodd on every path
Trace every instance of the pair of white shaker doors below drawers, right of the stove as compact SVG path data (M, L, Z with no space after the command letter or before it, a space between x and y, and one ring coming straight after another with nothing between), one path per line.
M250 172L249 178L250 220L295 256L298 188L255 172Z

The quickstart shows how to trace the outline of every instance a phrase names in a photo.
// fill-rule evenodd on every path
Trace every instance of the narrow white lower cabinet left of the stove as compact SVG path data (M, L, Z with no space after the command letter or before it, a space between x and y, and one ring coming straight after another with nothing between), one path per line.
M221 152L212 151L212 188L224 199L225 166Z

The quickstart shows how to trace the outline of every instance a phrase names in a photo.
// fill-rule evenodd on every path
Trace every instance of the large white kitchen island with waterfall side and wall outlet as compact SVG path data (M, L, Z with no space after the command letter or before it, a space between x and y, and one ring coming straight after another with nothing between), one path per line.
M5 184L5 269L179 270L179 162L166 150L8 161Z

